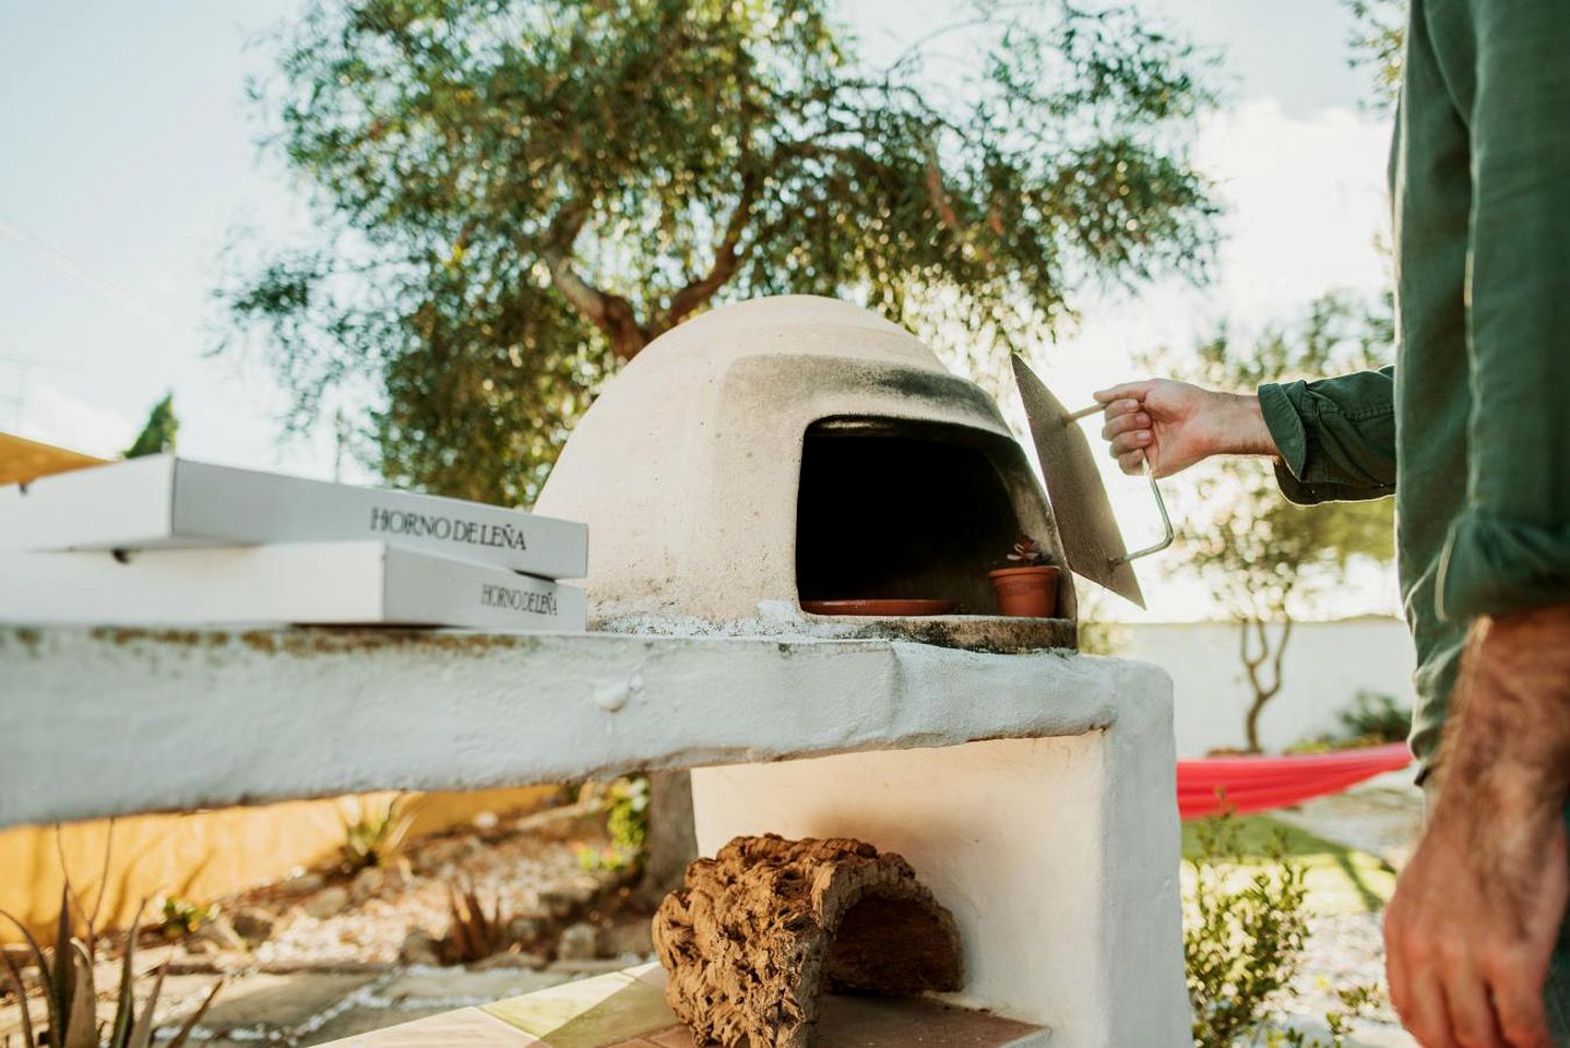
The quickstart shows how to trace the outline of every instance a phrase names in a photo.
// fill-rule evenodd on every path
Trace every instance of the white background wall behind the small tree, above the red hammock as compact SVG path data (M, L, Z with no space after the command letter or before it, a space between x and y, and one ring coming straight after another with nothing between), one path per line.
M1173 678L1178 756L1243 745L1251 689L1231 623L1143 623L1121 629L1119 656L1154 662ZM1358 689L1413 701L1415 656L1405 623L1349 618L1297 623L1281 689L1261 719L1261 742L1280 748L1339 728L1336 714Z

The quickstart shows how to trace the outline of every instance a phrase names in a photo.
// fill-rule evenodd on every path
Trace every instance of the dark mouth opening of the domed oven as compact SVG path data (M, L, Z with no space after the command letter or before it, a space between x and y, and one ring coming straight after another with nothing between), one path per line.
M1013 493L1033 486L1024 452L995 433L885 417L813 422L796 499L804 612L845 613L826 606L835 601L929 601L947 607L854 613L999 617L988 573L1022 530Z

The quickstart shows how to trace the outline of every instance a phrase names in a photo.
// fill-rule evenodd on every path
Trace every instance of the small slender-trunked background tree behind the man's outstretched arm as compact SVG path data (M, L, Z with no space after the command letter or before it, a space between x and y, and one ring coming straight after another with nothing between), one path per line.
M1371 309L1327 295L1295 328L1270 328L1251 345L1223 329L1187 366L1163 361L1156 373L1253 392L1270 381L1380 367L1391 337L1388 301ZM1294 621L1342 582L1353 560L1394 557L1394 500L1292 505L1267 463L1221 458L1195 471L1184 505L1178 549L1237 623L1253 690L1243 731L1259 751L1259 717L1281 690Z

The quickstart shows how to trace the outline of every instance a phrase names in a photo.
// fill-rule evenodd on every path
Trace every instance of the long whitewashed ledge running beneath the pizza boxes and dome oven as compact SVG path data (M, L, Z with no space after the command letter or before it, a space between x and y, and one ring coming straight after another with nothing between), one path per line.
M0 827L1082 734L1151 665L893 640L0 624Z

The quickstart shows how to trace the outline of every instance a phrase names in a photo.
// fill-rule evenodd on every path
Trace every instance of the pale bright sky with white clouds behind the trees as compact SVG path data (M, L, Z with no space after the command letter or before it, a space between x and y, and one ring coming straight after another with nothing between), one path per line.
M1226 320L1291 318L1333 289L1377 292L1388 119L1361 107L1338 0L1143 0L1223 56L1225 105L1195 160L1226 209L1214 281L1080 300L1082 323L1036 355L1071 403L1134 378L1132 355ZM256 144L243 97L267 71L262 31L300 0L0 0L0 430L99 455L127 447L174 392L184 455L330 477L330 427L281 441L284 400L254 361L214 358L212 289L234 231L290 243L300 187ZM950 0L842 0L873 52L951 20ZM367 480L355 464L344 479ZM1130 546L1149 496L1108 471ZM1152 618L1199 595L1145 573ZM1393 607L1372 573L1339 612Z

